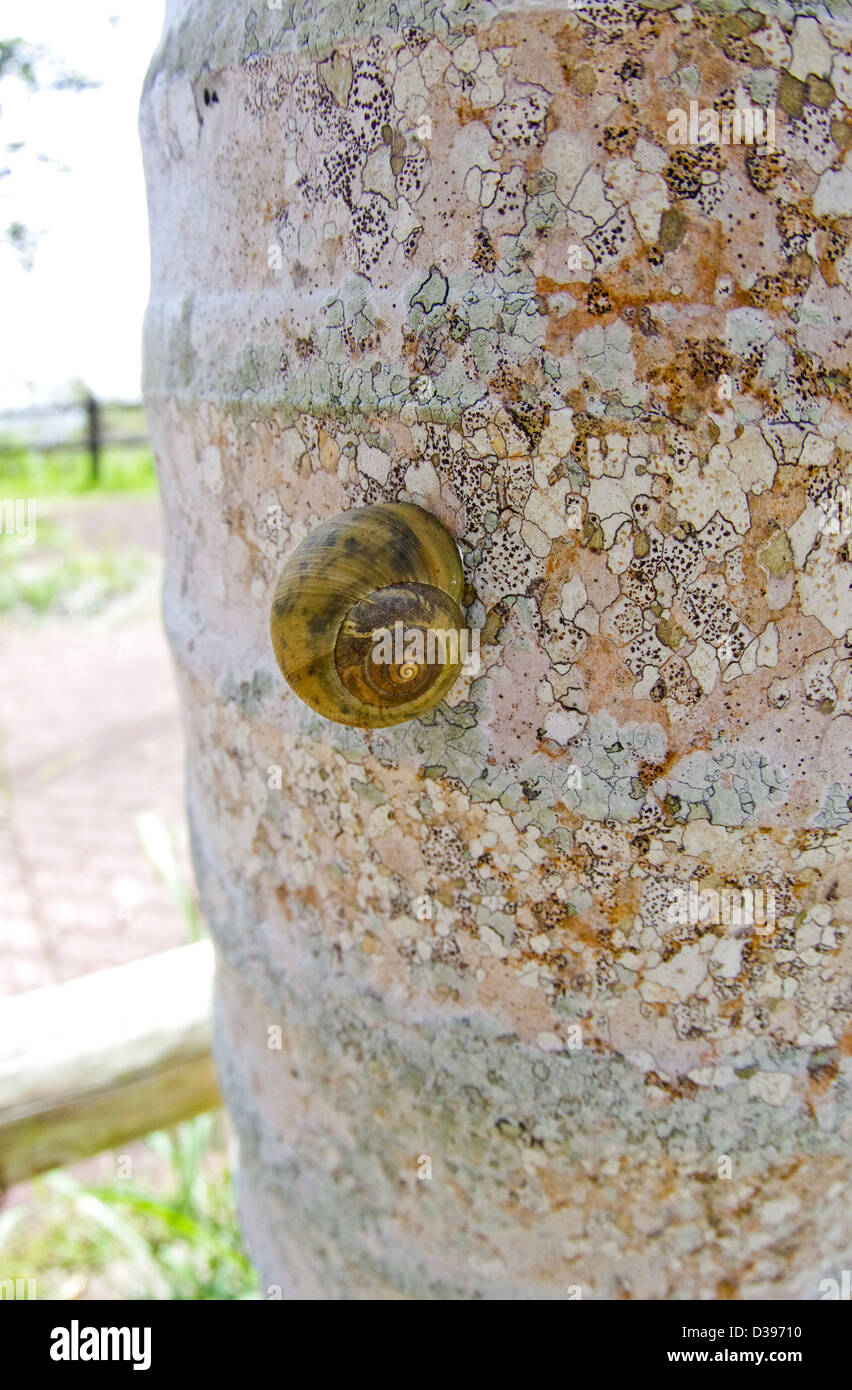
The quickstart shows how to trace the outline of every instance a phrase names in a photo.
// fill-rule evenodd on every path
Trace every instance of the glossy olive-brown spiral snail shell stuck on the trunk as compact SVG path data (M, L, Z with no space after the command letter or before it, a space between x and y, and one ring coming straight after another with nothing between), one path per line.
M461 660L374 660L377 632L464 628L459 549L411 503L359 507L324 521L285 563L270 632L281 673L338 724L382 728L416 719L454 684ZM400 655L393 652L393 656ZM431 655L436 655L435 651Z

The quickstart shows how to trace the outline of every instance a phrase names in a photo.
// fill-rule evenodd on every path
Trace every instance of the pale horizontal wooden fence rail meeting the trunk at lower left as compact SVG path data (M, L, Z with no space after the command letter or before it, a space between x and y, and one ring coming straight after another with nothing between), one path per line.
M0 1008L0 1187L221 1105L213 947L197 941Z

